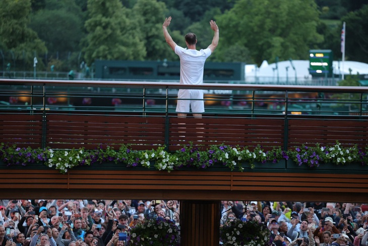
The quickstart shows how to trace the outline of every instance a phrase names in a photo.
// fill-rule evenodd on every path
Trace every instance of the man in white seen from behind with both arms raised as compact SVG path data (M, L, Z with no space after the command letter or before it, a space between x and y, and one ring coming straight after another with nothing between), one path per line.
M212 43L205 50L200 51L196 50L197 37L194 33L185 35L188 49L178 46L167 31L170 22L171 16L165 19L162 29L166 42L180 58L180 84L203 84L205 61L215 51L218 44L219 30L216 22L210 21L211 29L215 32ZM194 117L202 117L202 113L205 112L202 90L180 89L177 97L176 112L178 117L186 117L190 107Z

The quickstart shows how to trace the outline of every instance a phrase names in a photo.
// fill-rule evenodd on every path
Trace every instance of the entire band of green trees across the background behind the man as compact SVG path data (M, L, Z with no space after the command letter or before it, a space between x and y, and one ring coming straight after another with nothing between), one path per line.
M305 60L312 49L332 50L336 59L345 21L345 59L367 63L367 6L368 0L3 0L0 50L29 65L35 53L46 52L89 65L96 59L174 61L162 35L164 18L172 16L174 41L185 47L183 36L194 32L198 49L211 43L209 21L216 21L220 41L211 61ZM64 63L63 70L78 64Z

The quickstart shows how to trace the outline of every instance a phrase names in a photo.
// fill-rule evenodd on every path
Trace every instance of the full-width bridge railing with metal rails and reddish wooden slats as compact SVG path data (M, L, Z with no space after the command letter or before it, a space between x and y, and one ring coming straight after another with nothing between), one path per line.
M72 149L96 144L365 146L368 87L0 80L3 142ZM179 88L205 90L202 119L177 118Z

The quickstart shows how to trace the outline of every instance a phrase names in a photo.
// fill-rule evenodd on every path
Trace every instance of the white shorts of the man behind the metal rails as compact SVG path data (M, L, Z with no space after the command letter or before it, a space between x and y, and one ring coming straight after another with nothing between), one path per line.
M195 100L199 99L199 100ZM190 108L192 113L205 112L203 101L203 90L180 89L177 93L176 112L189 113Z

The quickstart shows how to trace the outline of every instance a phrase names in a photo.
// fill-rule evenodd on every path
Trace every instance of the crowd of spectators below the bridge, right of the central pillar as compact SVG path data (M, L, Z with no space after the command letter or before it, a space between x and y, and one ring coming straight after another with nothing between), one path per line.
M222 201L221 224L256 220L274 246L368 246L368 205Z

